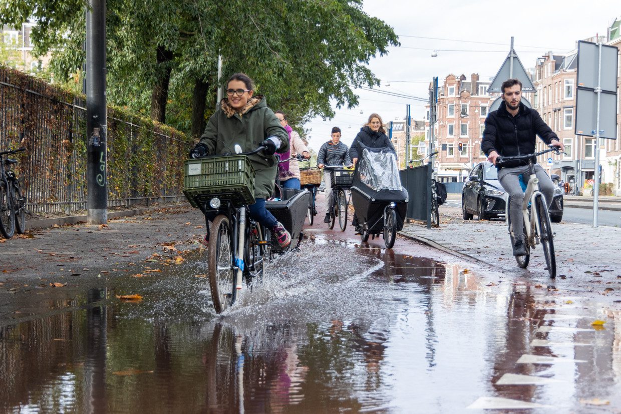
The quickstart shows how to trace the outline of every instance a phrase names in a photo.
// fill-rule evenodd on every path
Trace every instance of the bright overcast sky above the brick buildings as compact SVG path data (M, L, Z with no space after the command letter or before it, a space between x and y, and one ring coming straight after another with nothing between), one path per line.
M528 7L530 4L537 7ZM528 69L548 50L568 53L578 40L606 34L615 17L621 16L619 0L365 0L364 9L391 25L401 42L401 47L391 47L388 55L375 58L369 65L382 81L378 89L424 98L433 76L438 76L439 84L450 73L463 73L468 80L470 74L478 73L481 81L489 81L509 53L511 36L515 38L515 52ZM434 49L437 57L431 56ZM315 151L330 139L333 126L342 129L342 141L350 145L371 112L380 114L384 122L396 117L402 120L406 104L410 104L412 117L424 116L424 102L370 91L358 90L356 94L360 96L356 109L337 110L332 120L317 118L305 125L312 128L310 145Z

